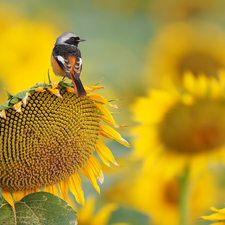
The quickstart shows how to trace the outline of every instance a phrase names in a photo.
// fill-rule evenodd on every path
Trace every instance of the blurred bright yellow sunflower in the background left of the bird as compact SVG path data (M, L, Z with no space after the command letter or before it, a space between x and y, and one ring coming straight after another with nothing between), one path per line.
M1 14L2 20L11 21L11 8L6 15ZM14 17L13 23L2 29L0 35L0 90L8 87L17 93L43 80L47 68L51 67L49 55L57 32L50 23L28 20L16 13Z

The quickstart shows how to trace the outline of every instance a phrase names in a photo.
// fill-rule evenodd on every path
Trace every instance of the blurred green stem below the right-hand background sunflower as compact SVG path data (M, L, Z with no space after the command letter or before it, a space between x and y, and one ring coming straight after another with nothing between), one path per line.
M188 225L189 221L189 168L187 167L183 176L179 179L180 196L179 196L179 216L180 225Z

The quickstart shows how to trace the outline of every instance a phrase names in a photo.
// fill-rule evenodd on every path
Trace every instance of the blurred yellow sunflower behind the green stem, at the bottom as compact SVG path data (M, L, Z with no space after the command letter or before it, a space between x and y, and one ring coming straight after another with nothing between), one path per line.
M145 213L151 218L152 224L179 224L181 187L178 179L166 179L152 172L124 176L126 180L122 179L106 190L104 199ZM195 224L196 218L207 211L206 206L217 204L224 195L223 191L218 191L214 174L192 179L189 191L192 194L187 203L190 205L188 224Z

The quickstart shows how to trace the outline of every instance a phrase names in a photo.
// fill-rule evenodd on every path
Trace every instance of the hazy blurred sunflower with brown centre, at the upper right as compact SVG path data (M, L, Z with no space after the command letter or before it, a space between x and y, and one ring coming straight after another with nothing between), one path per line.
M171 76L179 84L183 74L205 74L217 77L225 67L225 33L209 23L174 22L158 31L149 45L144 69L145 77L153 85Z

